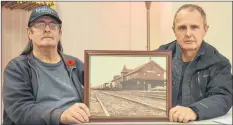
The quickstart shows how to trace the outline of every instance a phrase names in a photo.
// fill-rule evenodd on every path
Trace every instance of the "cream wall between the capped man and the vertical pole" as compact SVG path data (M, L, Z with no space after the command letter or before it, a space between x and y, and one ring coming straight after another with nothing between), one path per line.
M142 2L58 2L65 52L83 60L86 49L146 50L144 6Z

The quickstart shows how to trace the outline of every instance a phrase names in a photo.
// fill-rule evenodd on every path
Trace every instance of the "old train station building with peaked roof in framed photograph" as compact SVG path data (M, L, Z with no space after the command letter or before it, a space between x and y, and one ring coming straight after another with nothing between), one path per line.
M128 69L125 65L121 75L115 75L111 83L105 83L105 88L116 90L152 90L155 87L164 87L166 71L155 61Z

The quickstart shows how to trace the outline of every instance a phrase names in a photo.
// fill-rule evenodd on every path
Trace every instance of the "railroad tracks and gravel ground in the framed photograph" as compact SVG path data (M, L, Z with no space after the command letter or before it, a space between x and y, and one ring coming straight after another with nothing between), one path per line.
M91 92L90 110L92 116L166 116L166 100L155 100L137 94L95 90Z

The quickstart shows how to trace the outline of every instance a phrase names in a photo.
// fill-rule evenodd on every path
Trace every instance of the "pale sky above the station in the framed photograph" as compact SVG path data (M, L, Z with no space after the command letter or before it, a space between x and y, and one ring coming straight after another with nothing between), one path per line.
M151 57L164 70L167 70L167 58ZM134 69L149 62L149 56L129 55L91 55L89 58L89 80L92 86L104 84L113 80L114 75L121 75L123 66L127 69Z

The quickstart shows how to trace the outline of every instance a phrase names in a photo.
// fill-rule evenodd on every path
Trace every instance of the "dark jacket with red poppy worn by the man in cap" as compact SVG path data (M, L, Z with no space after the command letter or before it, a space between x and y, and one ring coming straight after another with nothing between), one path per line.
M83 102L84 64L77 58L63 55L67 60L76 62L74 66L66 65L66 71L72 79ZM21 55L12 59L6 66L3 74L3 124L6 125L53 125L59 124L61 109L47 108L35 104L38 80L31 56Z

